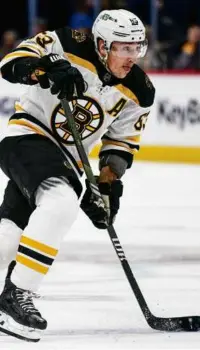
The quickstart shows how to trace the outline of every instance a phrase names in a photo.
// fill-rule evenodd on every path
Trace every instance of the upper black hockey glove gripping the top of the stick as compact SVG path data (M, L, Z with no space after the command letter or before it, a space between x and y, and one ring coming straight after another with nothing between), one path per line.
M50 87L53 95L59 99L71 100L73 95L81 96L85 91L85 82L78 69L57 54L49 54L39 59L35 74L43 89Z

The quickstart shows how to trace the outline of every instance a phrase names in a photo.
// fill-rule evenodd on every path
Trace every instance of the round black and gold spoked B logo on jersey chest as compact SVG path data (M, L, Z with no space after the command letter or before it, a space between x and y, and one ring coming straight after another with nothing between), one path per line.
M95 133L103 123L103 111L100 105L91 97L74 98L69 102L77 130L84 140ZM73 144L73 136L70 132L67 118L61 103L55 108L51 119L52 130L65 144Z

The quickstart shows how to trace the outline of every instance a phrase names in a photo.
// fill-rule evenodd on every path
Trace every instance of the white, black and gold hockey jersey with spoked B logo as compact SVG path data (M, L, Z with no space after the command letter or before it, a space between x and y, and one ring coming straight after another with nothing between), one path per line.
M100 62L93 40L67 27L22 41L4 57L0 68L9 71L15 60L49 53L65 57L79 69L87 84L84 98L74 97L70 102L86 153L101 141L101 152L123 154L130 167L154 101L155 89L148 76L134 65L126 78L113 77ZM81 167L60 100L50 90L39 84L27 85L15 109L6 136L38 133L49 137L66 151L70 162L75 160Z

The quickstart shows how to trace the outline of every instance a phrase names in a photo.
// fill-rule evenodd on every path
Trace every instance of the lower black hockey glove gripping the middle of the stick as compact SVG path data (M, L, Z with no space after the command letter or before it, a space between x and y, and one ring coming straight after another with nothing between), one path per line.
M98 198L91 191L89 181L86 180L86 191L81 200L80 207L99 229L106 229L112 225L119 210L120 197L123 193L121 180L114 180L111 184L99 183L99 191L102 195L104 208L99 205Z

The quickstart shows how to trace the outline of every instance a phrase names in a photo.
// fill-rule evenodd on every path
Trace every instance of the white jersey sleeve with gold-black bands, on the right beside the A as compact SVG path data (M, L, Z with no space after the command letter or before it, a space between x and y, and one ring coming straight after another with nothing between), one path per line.
M140 139L150 113L150 107L129 101L120 116L109 126L102 137L100 156L103 153L118 154L131 167L134 154L140 149Z

